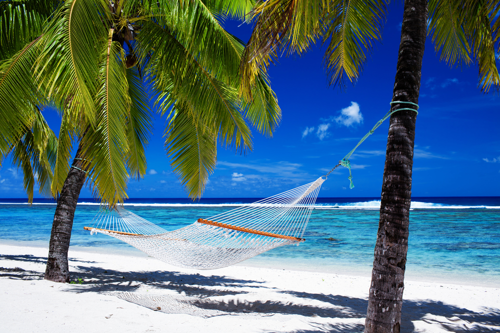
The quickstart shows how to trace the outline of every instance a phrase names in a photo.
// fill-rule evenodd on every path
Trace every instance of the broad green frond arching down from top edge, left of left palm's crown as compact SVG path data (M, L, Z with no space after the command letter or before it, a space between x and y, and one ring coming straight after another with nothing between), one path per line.
M44 31L44 48L37 60L40 86L55 101L71 96L74 112L95 121L100 50L107 40L104 0L65 1Z

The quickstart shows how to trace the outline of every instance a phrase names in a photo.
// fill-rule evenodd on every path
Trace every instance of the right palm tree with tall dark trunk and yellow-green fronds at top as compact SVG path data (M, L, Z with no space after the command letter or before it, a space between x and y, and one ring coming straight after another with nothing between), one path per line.
M305 51L316 40L327 45L324 63L330 84L355 82L381 40L388 1L332 0L260 2L255 27L245 49L240 75L251 82L259 65L278 52ZM382 180L380 219L374 251L365 332L399 332L408 249L411 171L420 73L427 32L440 59L448 64L477 61L479 85L498 87L495 64L499 1L405 0ZM428 31L427 31L428 28ZM244 94L241 91L241 94ZM409 106L409 107L408 107Z

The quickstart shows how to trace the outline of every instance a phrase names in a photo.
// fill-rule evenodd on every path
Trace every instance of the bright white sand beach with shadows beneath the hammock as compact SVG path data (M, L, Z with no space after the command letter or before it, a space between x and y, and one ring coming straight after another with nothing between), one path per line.
M47 252L0 244L1 332L363 331L366 277L70 251L81 284L60 284ZM499 288L405 281L401 332L500 332L499 309Z

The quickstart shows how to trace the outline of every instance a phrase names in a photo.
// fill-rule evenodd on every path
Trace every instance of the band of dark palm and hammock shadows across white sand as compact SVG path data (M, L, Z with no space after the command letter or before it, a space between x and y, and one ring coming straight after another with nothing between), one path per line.
M46 258L34 256L0 256L0 259L33 263L46 261ZM78 265L73 266L76 272L72 273L72 279L81 279L81 284L68 288L66 292L70 293L100 293L152 311L204 318L227 315L264 317L278 314L309 317L311 329L293 331L296 333L362 332L364 329L368 305L365 299L279 290L264 286L262 281L256 280L216 275L205 277L167 271L122 272L96 267L91 265L92 262L72 261ZM20 268L0 268L0 278L38 280L43 278L43 274ZM155 290L154 295L141 293L138 290L140 286L151 287ZM255 288L256 292L266 289L269 292L293 296L296 301L247 301L244 298L249 293L248 288ZM217 297L225 297L225 300L213 299ZM301 302L301 299L304 302ZM320 301L322 304L305 304L308 301ZM325 324L324 320L315 323L314 318L317 317L333 321L337 319L339 323ZM415 321L432 324L433 327L438 325L444 332L500 332L499 309L484 308L482 312L473 312L433 300L403 301L401 332L414 331Z

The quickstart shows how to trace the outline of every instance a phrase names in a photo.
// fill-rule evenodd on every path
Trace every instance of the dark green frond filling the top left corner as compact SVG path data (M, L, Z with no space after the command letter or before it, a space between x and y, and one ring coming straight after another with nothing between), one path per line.
M0 1L0 60L16 52L41 35L58 0Z

